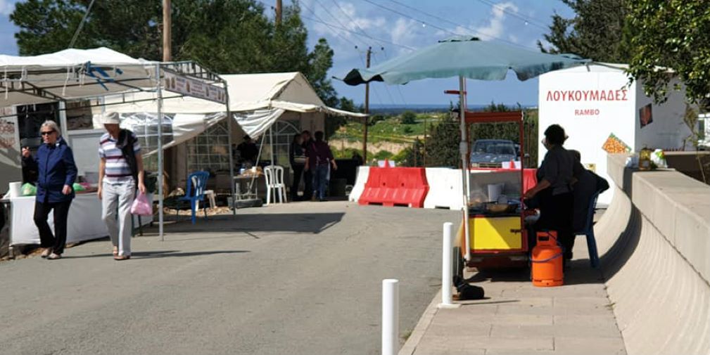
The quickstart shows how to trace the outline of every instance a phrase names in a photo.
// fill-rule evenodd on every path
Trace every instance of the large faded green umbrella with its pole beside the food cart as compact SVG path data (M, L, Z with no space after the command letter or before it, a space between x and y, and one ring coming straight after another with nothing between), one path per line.
M590 62L577 55L554 55L534 50L513 47L501 43L479 40L479 38L451 38L439 41L435 45L415 50L367 69L353 69L344 78L350 85L367 82L386 82L387 84L406 84L413 80L459 77L459 98L461 108L461 167L464 181L464 235L469 235L469 179L466 176L468 166L468 143L466 142L466 80L503 80L508 70L513 70L519 80L552 70L584 65ZM471 258L469 238L466 241L466 260Z

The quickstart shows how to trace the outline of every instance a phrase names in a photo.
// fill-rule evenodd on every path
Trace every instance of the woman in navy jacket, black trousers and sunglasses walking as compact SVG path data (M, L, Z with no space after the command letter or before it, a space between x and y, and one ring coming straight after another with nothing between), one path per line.
M43 258L55 260L62 257L67 242L67 216L74 198L72 185L77 178L72 148L60 136L55 121L45 121L40 127L44 144L32 158L27 148L22 149L22 163L35 168L37 198L35 200L35 225L40 232L40 246L45 248ZM54 235L47 223L49 212L54 210Z

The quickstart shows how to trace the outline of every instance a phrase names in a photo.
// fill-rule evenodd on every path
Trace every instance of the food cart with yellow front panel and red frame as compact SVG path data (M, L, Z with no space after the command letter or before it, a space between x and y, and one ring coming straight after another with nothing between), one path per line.
M524 114L511 112L466 112L466 126L471 124L517 123L520 151L523 145ZM521 153L524 155L524 153ZM471 168L469 170L469 235L464 237L464 223L454 244L454 275L461 276L465 266L476 268L528 266L528 231L522 204L525 190L534 186L535 169L525 169L524 159L506 168Z

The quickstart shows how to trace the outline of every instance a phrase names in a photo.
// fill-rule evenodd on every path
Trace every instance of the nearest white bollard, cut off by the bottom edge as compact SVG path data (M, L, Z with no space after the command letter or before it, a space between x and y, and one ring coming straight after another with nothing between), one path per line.
M399 351L399 280L382 280L382 355Z

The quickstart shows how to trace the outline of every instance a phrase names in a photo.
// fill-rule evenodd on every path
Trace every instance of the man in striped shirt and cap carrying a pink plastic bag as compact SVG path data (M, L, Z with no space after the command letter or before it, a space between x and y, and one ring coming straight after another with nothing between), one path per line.
M131 258L131 204L136 185L138 191L146 193L141 145L133 132L121 129L118 113L106 114L102 123L107 131L99 141L102 219L109 229L114 259L126 260Z

